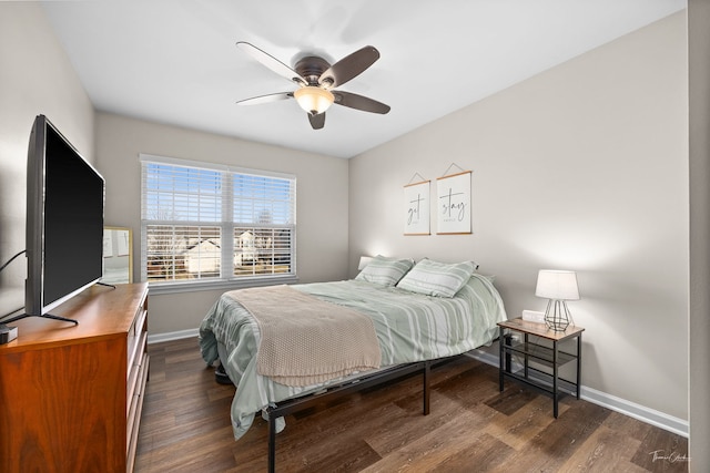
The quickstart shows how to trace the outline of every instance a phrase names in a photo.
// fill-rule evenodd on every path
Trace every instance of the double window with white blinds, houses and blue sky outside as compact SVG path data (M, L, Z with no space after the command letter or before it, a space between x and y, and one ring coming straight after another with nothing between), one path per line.
M141 268L151 286L295 277L294 176L141 155Z

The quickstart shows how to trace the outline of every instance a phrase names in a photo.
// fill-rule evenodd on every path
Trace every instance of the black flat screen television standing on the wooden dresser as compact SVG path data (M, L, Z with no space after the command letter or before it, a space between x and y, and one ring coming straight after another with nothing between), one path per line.
M103 275L104 179L44 116L30 134L27 162L24 315L49 311Z

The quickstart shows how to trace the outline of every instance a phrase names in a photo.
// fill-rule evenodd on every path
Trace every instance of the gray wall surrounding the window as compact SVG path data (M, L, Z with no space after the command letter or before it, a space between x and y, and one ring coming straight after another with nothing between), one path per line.
M97 114L97 167L106 178L106 225L133 229L140 278L139 153L206 161L296 176L296 266L301 282L347 277L347 161ZM194 329L223 290L151 296L150 332Z

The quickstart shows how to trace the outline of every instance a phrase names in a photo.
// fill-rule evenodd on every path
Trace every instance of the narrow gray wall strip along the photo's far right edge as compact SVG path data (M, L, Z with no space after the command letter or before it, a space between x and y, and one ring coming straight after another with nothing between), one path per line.
M710 465L710 3L688 2L690 89L690 471Z

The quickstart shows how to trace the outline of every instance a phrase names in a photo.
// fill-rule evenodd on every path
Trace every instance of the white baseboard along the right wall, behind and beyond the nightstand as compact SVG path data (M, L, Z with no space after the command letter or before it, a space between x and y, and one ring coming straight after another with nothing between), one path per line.
M484 363L493 364L496 368L499 366L497 353L494 354L484 350L473 350L467 354ZM580 389L580 398L585 401L611 409L612 411L637 419L641 422L656 425L657 428L684 438L688 438L690 432L690 425L686 420L668 415L655 409L627 401L626 399L617 398L616 395L598 391L584 384Z

